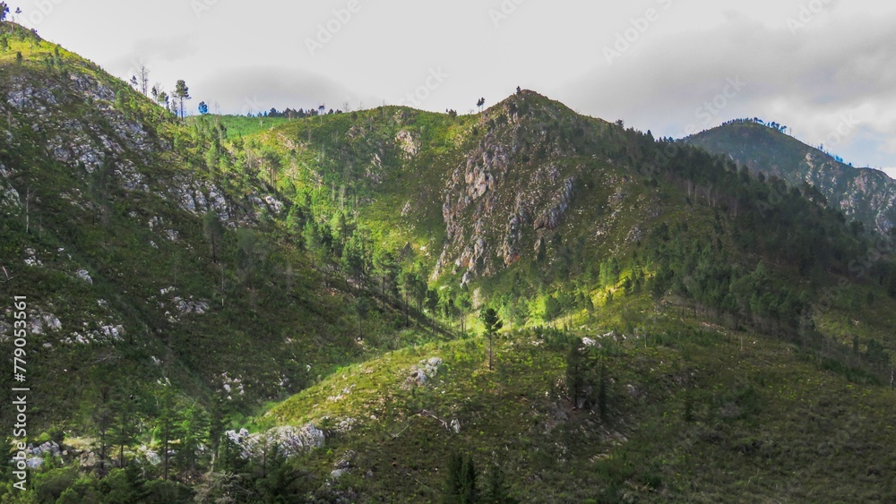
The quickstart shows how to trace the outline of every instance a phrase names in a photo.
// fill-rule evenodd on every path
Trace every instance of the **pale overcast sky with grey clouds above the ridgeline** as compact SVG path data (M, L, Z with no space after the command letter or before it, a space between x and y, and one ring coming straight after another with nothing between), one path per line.
M18 21L223 113L406 104L517 86L654 136L758 116L896 167L896 3L881 0L15 0ZM409 96L410 95L410 96Z

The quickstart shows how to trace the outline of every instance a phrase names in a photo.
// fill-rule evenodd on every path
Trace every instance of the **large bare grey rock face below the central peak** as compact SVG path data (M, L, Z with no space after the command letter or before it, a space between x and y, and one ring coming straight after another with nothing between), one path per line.
M568 162L577 152L556 132L560 112L526 103L512 99L483 115L482 140L450 175L442 204L448 243L433 278L494 275L562 225L585 166Z

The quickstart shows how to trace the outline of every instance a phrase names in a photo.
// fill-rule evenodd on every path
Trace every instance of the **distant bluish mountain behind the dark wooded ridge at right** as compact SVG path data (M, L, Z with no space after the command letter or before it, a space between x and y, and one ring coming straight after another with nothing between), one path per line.
M683 141L754 174L774 175L797 187L811 184L846 217L869 229L886 234L896 225L896 181L879 170L845 165L765 124L735 121Z

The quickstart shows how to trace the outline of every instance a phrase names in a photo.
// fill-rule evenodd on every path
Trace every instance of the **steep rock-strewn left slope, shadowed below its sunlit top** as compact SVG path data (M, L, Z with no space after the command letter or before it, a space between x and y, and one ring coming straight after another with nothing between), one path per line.
M220 421L368 351L355 289L311 268L272 188L207 167L209 149L234 162L220 142L79 56L3 30L0 329L10 341L9 300L27 296L35 435L95 434L97 397L139 397L154 422L168 382ZM392 333L397 314L370 309L383 318L360 329Z

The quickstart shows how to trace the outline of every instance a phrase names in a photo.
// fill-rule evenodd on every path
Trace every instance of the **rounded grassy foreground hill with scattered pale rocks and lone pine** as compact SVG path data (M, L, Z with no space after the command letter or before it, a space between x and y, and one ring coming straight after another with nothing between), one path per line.
M339 484L371 501L437 499L457 449L480 467L501 466L523 501L893 497L892 390L823 372L795 346L700 320L661 317L645 330L646 347L642 338L600 340L606 422L573 410L564 349L530 330L504 336L492 372L480 338L431 344L340 370L268 417L334 430L355 419L305 464L328 474L357 452ZM410 367L433 356L445 362L435 380L403 389ZM423 411L459 420L461 432Z

